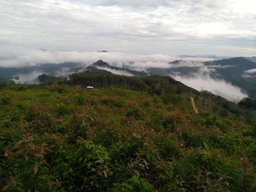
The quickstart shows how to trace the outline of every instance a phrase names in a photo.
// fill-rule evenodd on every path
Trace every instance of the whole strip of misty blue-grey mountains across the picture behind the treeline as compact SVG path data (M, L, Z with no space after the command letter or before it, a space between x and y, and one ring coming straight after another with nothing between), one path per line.
M209 57L209 55L206 55ZM170 61L167 66L146 67L134 69L134 65L123 64L122 66L110 64L99 60L93 64L82 64L67 62L63 64L40 64L37 66L23 66L19 68L0 68L0 82L34 82L37 77L47 74L52 77L67 77L68 74L76 72L90 72L91 70L102 70L113 74L143 77L148 74L159 74L162 76L196 77L197 74L207 73L214 79L225 80L241 88L249 96L256 97L256 57L252 58L223 58L211 61L197 61L192 57L184 55L180 60ZM211 58L217 58L211 56ZM255 70L254 70L255 69ZM17 77L14 79L14 77ZM44 81L42 78L42 82ZM48 80L48 78L46 78ZM53 80L53 79L52 79ZM55 80L55 79L54 79ZM39 80L40 81L40 80Z

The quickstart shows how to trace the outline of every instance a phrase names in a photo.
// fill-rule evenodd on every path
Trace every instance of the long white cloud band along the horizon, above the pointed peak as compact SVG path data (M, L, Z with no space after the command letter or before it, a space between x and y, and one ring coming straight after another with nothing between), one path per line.
M180 64L169 64L170 61L181 59L179 56L164 54L132 54L132 53L102 53L78 52L61 50L29 50L22 47L0 47L0 67L38 66L41 64L61 64L64 62L78 62L88 66L102 59L113 66L128 66L129 69L146 71L148 67L170 68L180 66L203 66L203 61L211 58L182 58Z

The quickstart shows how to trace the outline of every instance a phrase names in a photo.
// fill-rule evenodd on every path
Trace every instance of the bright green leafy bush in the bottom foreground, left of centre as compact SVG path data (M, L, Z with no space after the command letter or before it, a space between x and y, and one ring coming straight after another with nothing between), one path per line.
M105 147L82 141L74 150L64 150L62 145L56 155L52 172L65 188L75 191L103 191L109 187L112 175L110 157Z

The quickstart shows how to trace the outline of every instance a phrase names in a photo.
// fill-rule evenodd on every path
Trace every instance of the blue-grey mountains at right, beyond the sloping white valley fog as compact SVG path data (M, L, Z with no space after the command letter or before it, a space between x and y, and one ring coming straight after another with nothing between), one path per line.
M159 75L181 75L181 76L192 76L200 73L202 69L207 69L203 72L208 72L212 78L222 79L227 82L231 82L233 85L238 86L244 92L250 96L256 96L256 72L252 69L256 69L256 63L253 59L238 57L238 58L227 58L215 61L203 62L203 66L196 65L193 62L189 66L184 66L183 63L186 61L173 61L169 64L172 65L170 68L149 68L148 72ZM178 67L180 66L180 67Z

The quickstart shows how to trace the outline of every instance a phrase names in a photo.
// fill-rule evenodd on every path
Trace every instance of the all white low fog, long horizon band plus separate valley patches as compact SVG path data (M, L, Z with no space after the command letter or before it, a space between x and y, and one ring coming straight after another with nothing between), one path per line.
M176 80L184 82L184 84L197 89L198 91L211 91L214 94L224 97L230 101L240 101L246 97L240 88L232 85L225 80L211 77L211 73L216 72L215 69L222 66L206 66L204 61L212 61L212 58L181 58L173 55L141 55L131 53L105 53L105 52L69 52L60 50L29 50L20 47L9 47L8 49L0 48L0 67L22 67L22 66L39 66L43 64L63 64L64 62L78 62L80 68L85 69L86 66L102 59L119 68L133 69L136 71L147 72L148 68L160 69L177 69L179 67L191 67L198 69L197 73L182 76L181 74L173 74ZM182 61L177 61L182 60ZM172 61L176 61L171 63ZM228 66L231 67L231 66ZM113 74L121 74L132 76L129 72L114 70L110 68L100 68L112 72ZM195 71L195 70L194 70ZM67 75L74 71L68 67L61 67L53 72L56 76ZM255 69L246 71L247 74L255 72ZM20 77L19 82L31 82L39 74L43 72L34 71L31 74L17 74Z

